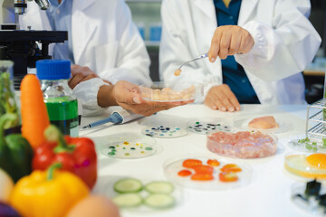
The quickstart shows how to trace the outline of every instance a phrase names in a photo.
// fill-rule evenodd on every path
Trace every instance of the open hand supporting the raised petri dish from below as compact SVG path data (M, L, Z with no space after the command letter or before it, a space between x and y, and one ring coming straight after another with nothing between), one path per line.
M177 106L183 106L194 100L179 102L154 102L141 99L139 87L125 80L118 81L112 90L114 99L123 109L129 109L143 116L150 116L160 110L167 110Z

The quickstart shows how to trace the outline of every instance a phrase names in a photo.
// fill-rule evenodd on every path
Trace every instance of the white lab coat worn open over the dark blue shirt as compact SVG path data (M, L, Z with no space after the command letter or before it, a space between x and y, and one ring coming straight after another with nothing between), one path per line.
M254 37L253 49L235 54L262 104L301 104L302 73L321 44L321 37L306 18L309 0L243 0L238 25ZM164 0L159 53L161 80L196 80L205 94L223 83L221 61L207 59L187 65L180 77L173 72L182 62L207 52L216 30L213 0ZM239 80L241 82L241 80Z

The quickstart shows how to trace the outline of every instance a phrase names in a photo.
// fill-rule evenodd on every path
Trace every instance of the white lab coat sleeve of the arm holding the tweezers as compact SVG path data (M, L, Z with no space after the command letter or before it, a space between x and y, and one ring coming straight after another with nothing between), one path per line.
M245 71L262 80L281 80L303 71L312 61L321 37L306 18L310 2L293 2L276 2L272 26L258 21L242 26L254 37L250 52L235 54Z

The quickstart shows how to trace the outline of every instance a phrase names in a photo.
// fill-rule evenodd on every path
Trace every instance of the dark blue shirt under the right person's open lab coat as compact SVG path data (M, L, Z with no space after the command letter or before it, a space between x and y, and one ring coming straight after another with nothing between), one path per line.
M214 0L214 4L217 26L237 24L241 0L232 0L228 8L222 0ZM244 68L235 61L234 56L227 56L225 60L222 60L222 74L223 83L230 87L240 103L260 103Z

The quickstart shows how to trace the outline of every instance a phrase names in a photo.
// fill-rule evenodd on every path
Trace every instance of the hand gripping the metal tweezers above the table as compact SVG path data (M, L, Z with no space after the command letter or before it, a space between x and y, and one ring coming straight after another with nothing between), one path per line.
M217 56L225 59L235 53L246 53L254 46L253 36L238 25L223 25L216 28L208 52L209 61L216 61Z

